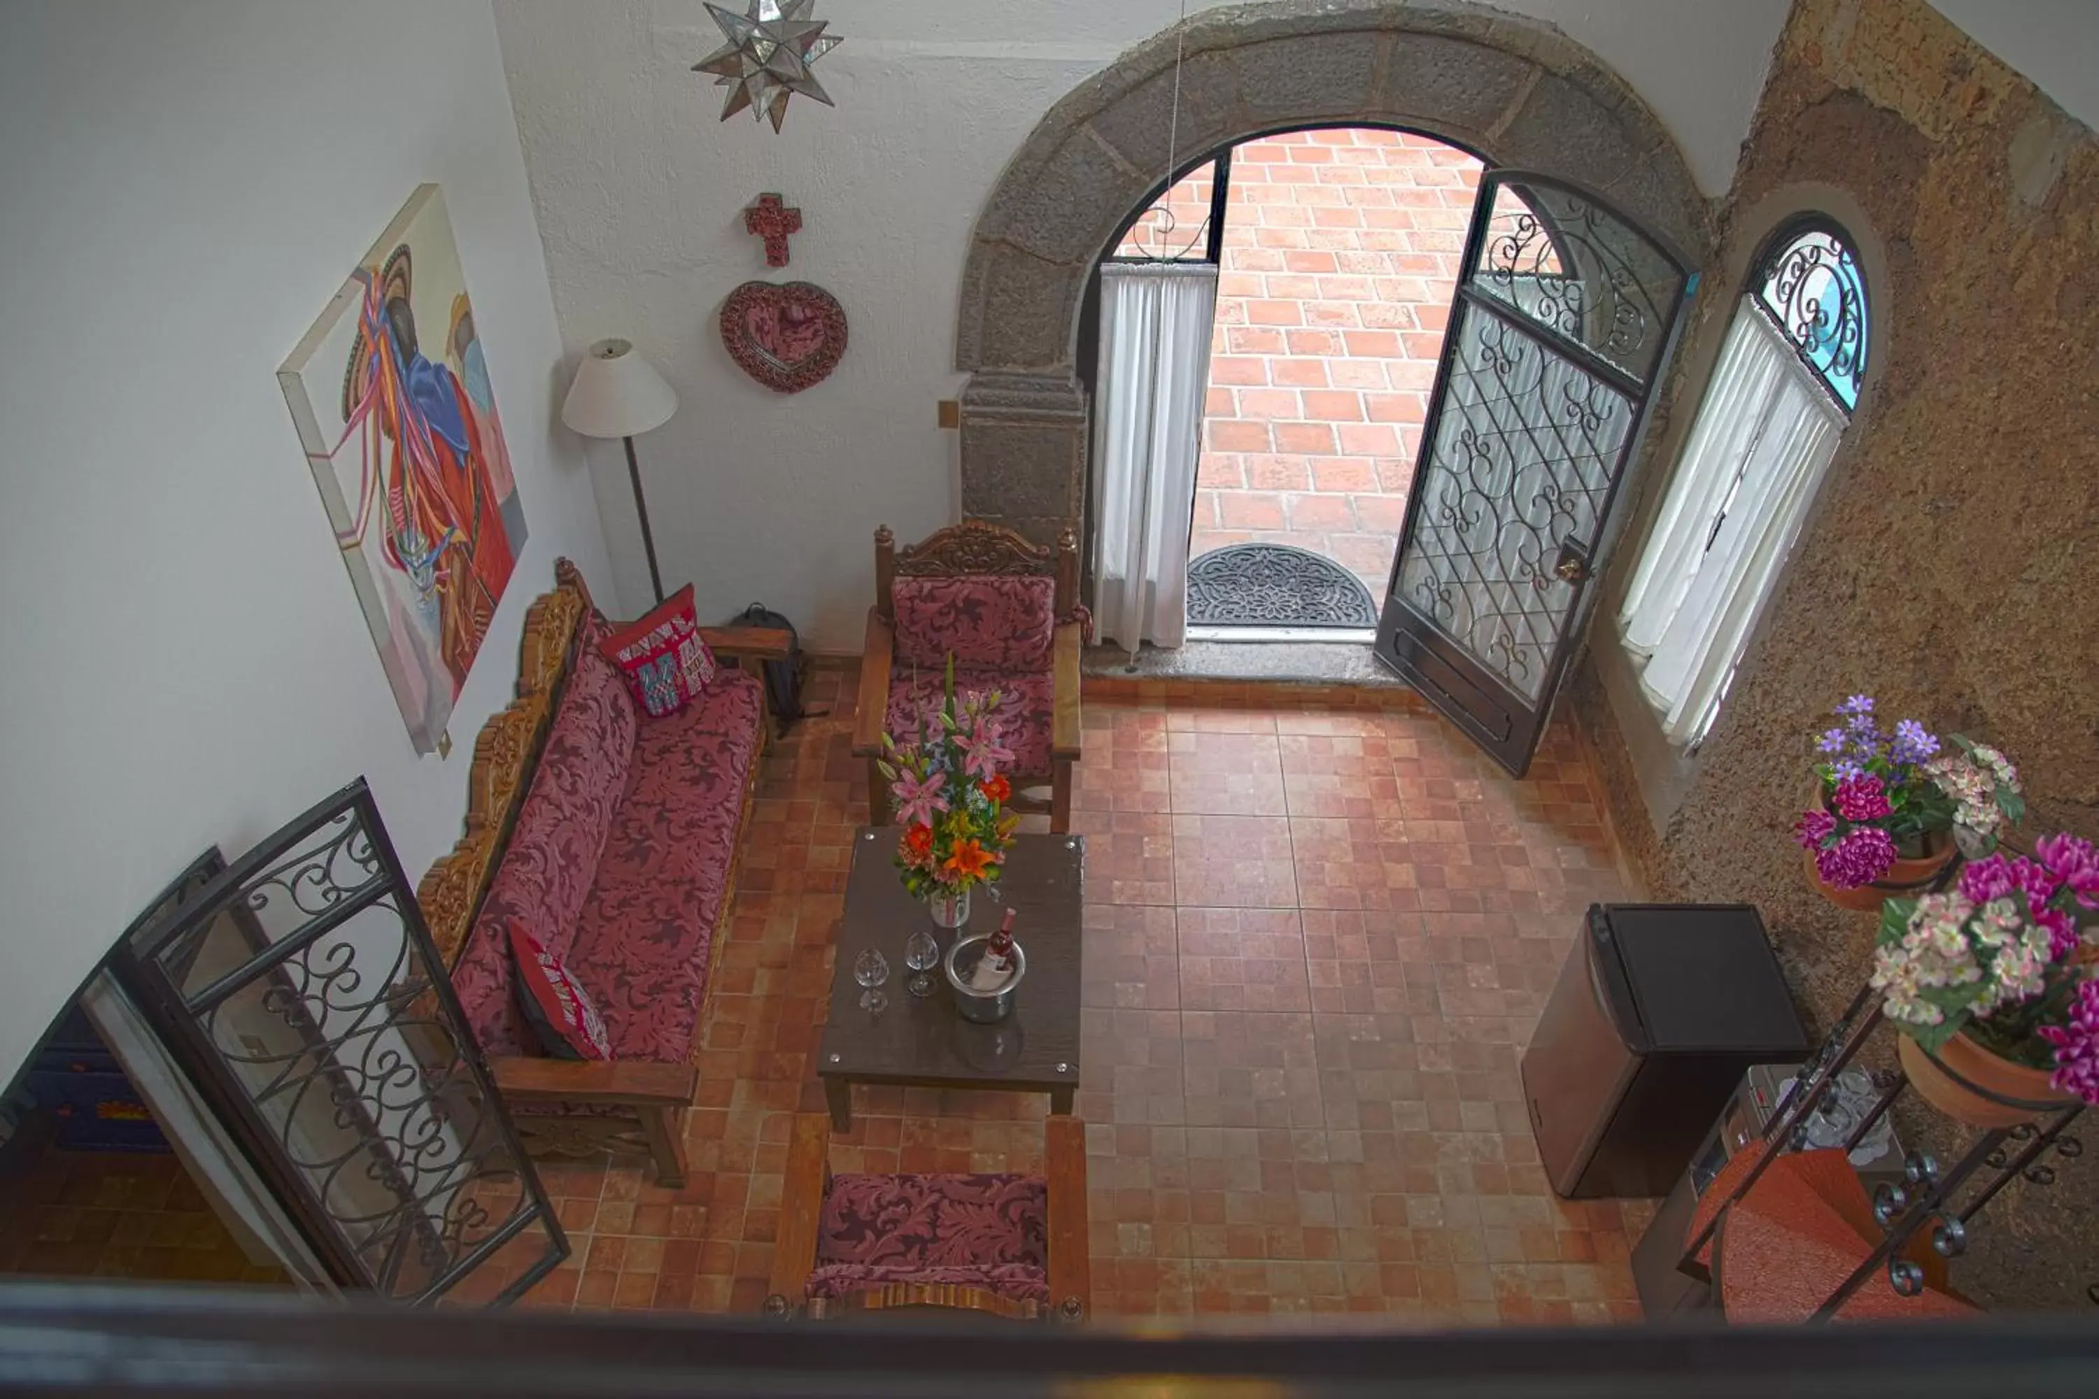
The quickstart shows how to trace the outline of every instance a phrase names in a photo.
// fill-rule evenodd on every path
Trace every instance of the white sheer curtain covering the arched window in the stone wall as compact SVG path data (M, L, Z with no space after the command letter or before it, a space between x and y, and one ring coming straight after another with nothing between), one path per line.
M1740 304L1618 612L1673 742L1696 742L1719 713L1843 426L1778 329Z

